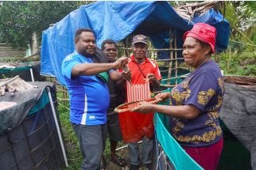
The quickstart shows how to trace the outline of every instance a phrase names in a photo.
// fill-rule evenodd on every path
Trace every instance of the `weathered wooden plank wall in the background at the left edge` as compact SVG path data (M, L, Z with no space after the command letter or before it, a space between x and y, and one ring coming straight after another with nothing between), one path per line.
M25 50L8 47L6 43L0 43L0 57L24 57Z

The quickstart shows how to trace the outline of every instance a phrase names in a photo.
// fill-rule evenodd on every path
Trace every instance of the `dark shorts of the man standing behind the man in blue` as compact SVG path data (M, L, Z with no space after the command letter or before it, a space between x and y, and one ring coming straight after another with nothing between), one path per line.
M122 141L122 132L119 124L118 114L107 115L107 133L113 141Z

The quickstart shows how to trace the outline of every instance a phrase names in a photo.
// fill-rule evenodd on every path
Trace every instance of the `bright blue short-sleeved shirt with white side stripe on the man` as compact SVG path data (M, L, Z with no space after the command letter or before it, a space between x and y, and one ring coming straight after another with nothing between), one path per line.
M107 84L95 76L72 77L72 68L79 63L93 62L91 57L83 57L74 51L61 66L70 99L70 121L83 125L105 124L110 104Z

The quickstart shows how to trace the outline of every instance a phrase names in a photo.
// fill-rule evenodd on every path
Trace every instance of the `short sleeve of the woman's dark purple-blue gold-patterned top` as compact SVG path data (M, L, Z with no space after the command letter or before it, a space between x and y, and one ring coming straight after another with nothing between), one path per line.
M215 96L218 89L218 77L214 74L201 72L191 77L188 82L188 96L184 104L192 104L204 110L204 108L211 102L211 98Z

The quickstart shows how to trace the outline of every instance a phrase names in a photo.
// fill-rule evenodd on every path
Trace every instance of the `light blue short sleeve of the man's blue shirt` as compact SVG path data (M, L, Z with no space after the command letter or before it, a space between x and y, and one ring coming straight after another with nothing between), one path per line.
M76 64L80 64L78 59L76 59L75 57L73 57L73 58L66 57L64 59L64 61L62 62L62 66L61 66L61 73L63 74L63 76L67 77L69 80L71 80L71 78L72 78L72 68Z

